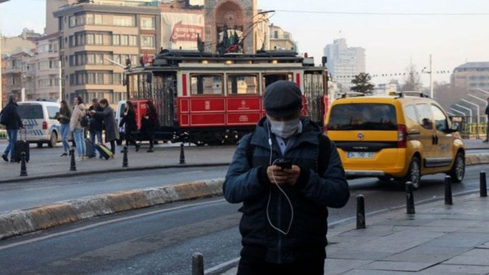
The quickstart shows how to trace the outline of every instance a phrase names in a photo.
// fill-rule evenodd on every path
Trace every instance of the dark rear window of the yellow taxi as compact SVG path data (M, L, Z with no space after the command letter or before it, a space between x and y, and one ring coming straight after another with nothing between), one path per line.
M396 130L396 111L391 104L338 104L329 115L332 130Z

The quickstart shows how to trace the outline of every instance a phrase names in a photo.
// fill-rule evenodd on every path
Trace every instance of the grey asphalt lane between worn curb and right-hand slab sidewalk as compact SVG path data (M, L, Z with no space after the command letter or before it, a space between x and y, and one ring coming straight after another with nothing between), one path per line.
M453 194L478 191L479 172L488 168L467 167L464 182L453 184ZM355 219L357 194L365 196L367 213L405 205L401 189L377 180L351 180L350 187L348 205L330 211L331 226ZM444 176L431 175L424 177L414 201L443 196ZM222 198L172 203L6 239L0 242L1 273L189 274L197 251L204 255L205 269L212 269L239 256L239 206Z

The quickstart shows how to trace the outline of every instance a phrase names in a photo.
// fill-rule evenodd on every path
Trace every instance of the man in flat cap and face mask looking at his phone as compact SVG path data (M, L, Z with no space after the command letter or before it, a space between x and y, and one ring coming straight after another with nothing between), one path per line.
M327 207L350 198L336 146L301 118L297 84L276 81L263 96L266 117L241 139L223 185L242 203L238 274L323 274Z

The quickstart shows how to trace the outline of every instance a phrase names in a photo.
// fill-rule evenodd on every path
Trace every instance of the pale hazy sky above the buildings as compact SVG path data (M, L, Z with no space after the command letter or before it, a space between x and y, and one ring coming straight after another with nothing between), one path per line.
M49 0L47 0L49 1ZM405 72L410 62L429 68L433 55L435 81L465 62L489 61L488 0L257 0L258 8L275 10L270 22L292 33L300 52L314 56L334 39L363 47L366 72ZM0 3L0 31L16 36L23 28L42 33L45 0ZM428 86L428 74L421 74ZM396 77L374 77L375 84ZM400 78L402 82L402 77Z

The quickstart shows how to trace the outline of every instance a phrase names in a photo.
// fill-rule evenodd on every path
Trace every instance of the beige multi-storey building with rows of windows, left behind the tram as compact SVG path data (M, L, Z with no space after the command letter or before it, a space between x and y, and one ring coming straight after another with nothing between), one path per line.
M124 67L148 63L160 50L155 1L87 1L59 7L63 98L125 100Z

